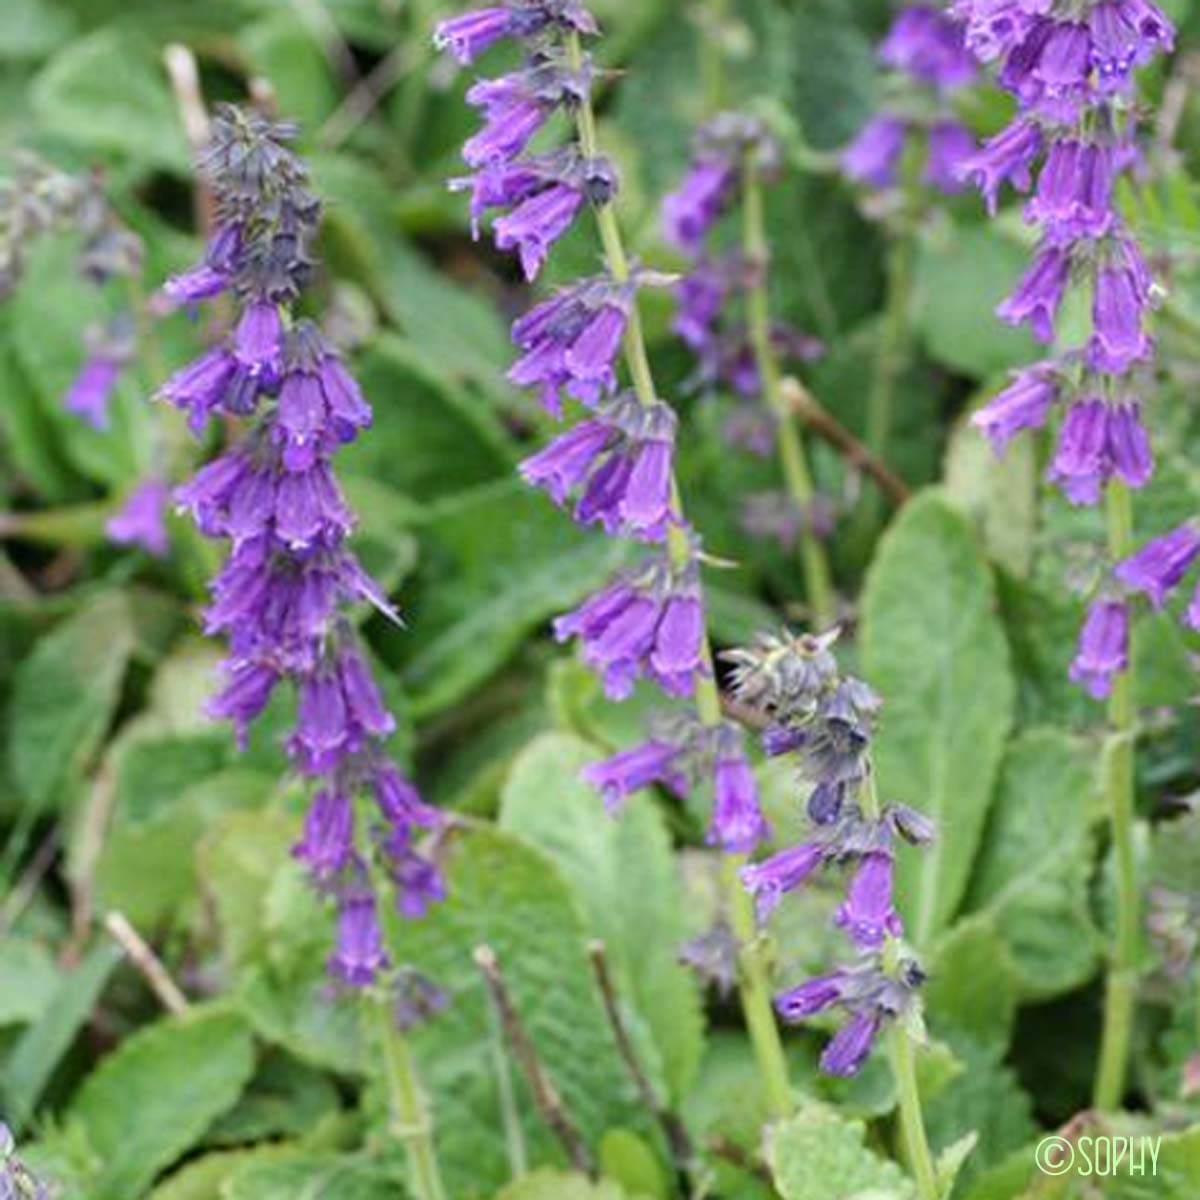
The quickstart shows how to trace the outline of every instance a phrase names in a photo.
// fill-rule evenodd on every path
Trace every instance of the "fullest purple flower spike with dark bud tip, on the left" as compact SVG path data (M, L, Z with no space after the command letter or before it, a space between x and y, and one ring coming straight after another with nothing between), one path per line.
M319 221L306 168L288 148L295 132L234 108L214 121L200 167L218 222L203 262L163 295L194 305L228 293L238 316L161 394L197 433L214 415L250 422L175 492L202 533L230 545L205 611L205 631L229 644L209 712L245 740L278 685L294 686L287 750L313 792L295 857L337 904L330 971L365 985L388 962L371 860L403 914L424 912L443 884L416 844L437 814L385 751L395 721L348 614L366 602L396 616L347 548L353 516L332 470L334 454L370 424L371 409L320 330L293 311ZM359 796L373 800L365 838Z

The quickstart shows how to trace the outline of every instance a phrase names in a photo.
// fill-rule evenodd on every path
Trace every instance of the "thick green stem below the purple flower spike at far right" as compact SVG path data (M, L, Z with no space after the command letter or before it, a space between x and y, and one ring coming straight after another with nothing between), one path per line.
M1133 503L1124 484L1108 487L1109 558L1117 563L1133 553ZM1133 664L1112 683L1109 697L1110 742L1104 760L1104 793L1109 804L1116 860L1116 934L1104 990L1104 1028L1092 1099L1096 1108L1121 1104L1129 1062L1134 1002L1138 990L1140 923L1138 869L1134 860L1134 674Z

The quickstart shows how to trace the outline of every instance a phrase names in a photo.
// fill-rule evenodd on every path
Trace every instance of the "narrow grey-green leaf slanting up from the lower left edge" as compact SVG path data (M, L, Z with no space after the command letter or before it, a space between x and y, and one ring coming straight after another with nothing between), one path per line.
M95 946L73 971L65 971L38 1020L14 1043L5 1060L0 1084L5 1116L23 1124L32 1115L42 1090L91 1015L121 952L112 942Z

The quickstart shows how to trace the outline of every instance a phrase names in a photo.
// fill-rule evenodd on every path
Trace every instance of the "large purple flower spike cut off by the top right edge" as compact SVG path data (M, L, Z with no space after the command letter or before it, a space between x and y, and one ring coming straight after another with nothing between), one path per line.
M1016 372L973 420L1000 452L1019 431L1063 410L1048 475L1073 504L1096 504L1110 480L1139 488L1153 470L1135 374L1154 349L1145 324L1156 288L1116 211L1115 186L1138 158L1134 71L1169 50L1174 32L1150 0L958 0L955 12L967 46L998 60L1000 82L1018 103L964 176L991 211L1003 184L1032 188L1024 216L1040 234L997 313L1051 343L1067 294L1078 288L1091 300L1087 341ZM1124 600L1103 590L1072 678L1108 695L1127 666L1128 640Z

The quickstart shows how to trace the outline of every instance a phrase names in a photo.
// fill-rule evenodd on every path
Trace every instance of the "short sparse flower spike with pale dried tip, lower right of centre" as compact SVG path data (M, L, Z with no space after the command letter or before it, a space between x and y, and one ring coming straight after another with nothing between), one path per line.
M934 828L906 805L880 809L870 762L880 700L862 680L839 672L830 650L835 637L760 636L749 649L726 656L739 698L767 716L763 748L769 755L794 755L811 785L808 840L742 870L758 920L818 870L848 871L834 923L852 942L856 960L785 991L775 1007L788 1021L842 1007L850 1019L826 1046L821 1066L832 1075L852 1075L887 1022L918 1019L924 976L900 941L893 854L898 838L924 845Z

